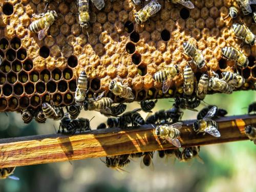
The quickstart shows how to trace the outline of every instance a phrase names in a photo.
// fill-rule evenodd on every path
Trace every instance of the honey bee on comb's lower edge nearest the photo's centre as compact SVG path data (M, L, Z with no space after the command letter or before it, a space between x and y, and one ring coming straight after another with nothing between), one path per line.
M126 98L128 100L133 100L135 98L132 89L128 86L122 84L122 82L112 80L109 84L109 90L115 95Z

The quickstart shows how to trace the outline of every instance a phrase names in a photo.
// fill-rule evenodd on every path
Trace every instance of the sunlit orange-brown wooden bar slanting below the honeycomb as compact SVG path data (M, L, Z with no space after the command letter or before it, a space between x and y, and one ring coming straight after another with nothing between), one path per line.
M248 139L246 124L256 125L256 115L229 116L216 120L220 138L208 134L196 135L192 130L195 120L183 121L181 145L194 146ZM156 141L152 125L139 129L94 130L73 136L55 134L0 139L0 168L77 159L157 151L174 148L172 144Z

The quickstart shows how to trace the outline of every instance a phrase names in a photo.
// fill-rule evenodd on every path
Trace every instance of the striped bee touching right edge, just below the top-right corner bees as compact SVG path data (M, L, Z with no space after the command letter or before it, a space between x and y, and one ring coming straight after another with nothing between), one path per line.
M244 40L246 44L253 46L255 43L255 35L245 25L233 24L232 29L234 34Z

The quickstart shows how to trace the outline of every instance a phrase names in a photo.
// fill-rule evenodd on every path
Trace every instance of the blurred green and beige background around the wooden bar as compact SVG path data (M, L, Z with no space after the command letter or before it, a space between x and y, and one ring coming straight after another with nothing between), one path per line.
M205 102L226 109L228 115L247 113L247 106L255 101L255 91L239 91L231 95L208 95ZM160 99L154 112L172 106L170 99ZM139 107L138 103L129 104L127 110ZM204 106L200 105L198 110ZM80 116L92 118L99 113L83 112ZM195 119L197 113L186 110L183 119ZM145 113L142 113L146 117ZM20 137L35 134L55 133L53 124L59 122L47 120L38 124L34 120L26 125L20 114L0 114L0 138ZM91 122L96 127L96 120ZM51 163L17 167L14 175L19 181L0 180L0 191L256 191L256 150L251 141L231 142L202 146L201 164L168 161L165 165L155 153L155 170L140 168L140 160L131 161L125 167L129 173L119 173L107 168L98 158L69 162Z

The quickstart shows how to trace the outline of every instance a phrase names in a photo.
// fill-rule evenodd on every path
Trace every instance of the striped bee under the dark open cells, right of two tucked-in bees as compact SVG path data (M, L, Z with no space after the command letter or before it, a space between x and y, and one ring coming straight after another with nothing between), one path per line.
M62 108L54 108L49 103L42 103L42 112L44 112L46 118L60 120L64 116Z

